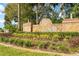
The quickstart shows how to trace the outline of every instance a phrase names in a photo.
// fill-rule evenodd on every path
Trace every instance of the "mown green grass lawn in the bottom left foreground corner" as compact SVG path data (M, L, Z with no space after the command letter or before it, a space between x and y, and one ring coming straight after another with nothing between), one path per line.
M0 45L0 56L54 56L47 53L29 52Z

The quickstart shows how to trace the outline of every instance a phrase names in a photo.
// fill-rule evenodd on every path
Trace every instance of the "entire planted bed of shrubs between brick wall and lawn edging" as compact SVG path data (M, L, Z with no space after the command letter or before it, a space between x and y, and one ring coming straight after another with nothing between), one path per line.
M46 51L62 53L79 52L78 32L14 33L9 35L2 35L0 42Z

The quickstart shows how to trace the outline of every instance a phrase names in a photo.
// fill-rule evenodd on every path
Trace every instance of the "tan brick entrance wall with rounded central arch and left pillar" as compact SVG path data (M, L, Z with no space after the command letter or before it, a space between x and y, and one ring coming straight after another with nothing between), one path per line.
M23 24L24 32L31 32L31 23ZM33 32L79 32L79 19L65 19L61 24L52 24L44 18L38 25L33 25Z

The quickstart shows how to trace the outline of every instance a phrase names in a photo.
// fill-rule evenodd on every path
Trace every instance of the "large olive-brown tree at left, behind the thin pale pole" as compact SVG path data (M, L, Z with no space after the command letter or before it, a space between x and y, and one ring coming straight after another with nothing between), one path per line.
M32 7L30 4L19 4L19 21L18 21L18 4L8 4L7 7L5 8L5 13L8 19L6 19L5 16L5 20L6 21L12 21L13 19L15 21L18 21L18 25L19 25L19 30L22 30L22 23L26 22L28 19L32 19ZM31 21L31 20L30 20Z

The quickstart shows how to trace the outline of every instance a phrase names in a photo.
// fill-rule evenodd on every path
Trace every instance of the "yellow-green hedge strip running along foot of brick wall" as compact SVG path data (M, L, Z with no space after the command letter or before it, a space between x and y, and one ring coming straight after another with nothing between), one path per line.
M14 33L13 35L18 37L30 37L30 38L37 38L37 39L64 39L64 38L70 38L73 36L79 36L79 32L28 32L28 33ZM54 36L57 36L54 38Z

